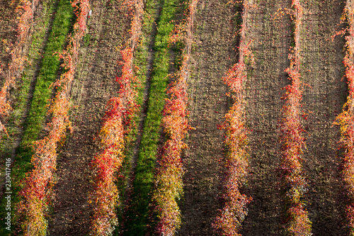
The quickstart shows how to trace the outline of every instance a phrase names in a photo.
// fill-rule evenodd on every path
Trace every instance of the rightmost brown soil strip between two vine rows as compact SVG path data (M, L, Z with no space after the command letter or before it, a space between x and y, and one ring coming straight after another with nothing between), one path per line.
M338 30L345 1L307 1L302 26L303 108L307 150L304 169L308 179L309 218L314 235L348 235L343 220L343 186L338 157L339 127L331 127L346 101L343 76L343 38L330 38Z

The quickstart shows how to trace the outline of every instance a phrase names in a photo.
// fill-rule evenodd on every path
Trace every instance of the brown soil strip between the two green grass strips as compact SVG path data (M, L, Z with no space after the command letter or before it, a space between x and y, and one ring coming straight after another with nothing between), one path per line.
M112 4L112 5L110 5ZM129 21L120 1L94 1L89 20L89 45L82 47L72 89L74 132L64 145L57 168L54 212L50 235L86 235L89 232L94 172L90 168L98 152L98 137L105 105L118 91L115 76L121 60L120 45Z

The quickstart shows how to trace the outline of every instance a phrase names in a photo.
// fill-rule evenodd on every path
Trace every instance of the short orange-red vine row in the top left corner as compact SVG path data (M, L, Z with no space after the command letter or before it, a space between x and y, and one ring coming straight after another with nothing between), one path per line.
M8 91L15 85L16 77L21 73L25 66L27 57L25 52L23 52L23 47L25 43L28 42L30 38L30 28L33 21L33 13L35 8L38 6L40 0L21 1L21 6L16 8L16 17L19 18L17 26L17 39L14 45L8 45L12 47L11 49L11 61L5 71L0 69L1 77L4 77L4 85L0 91L0 116L4 118L8 116L8 112L11 111L11 105L8 102ZM0 130L7 134L6 128L0 121Z

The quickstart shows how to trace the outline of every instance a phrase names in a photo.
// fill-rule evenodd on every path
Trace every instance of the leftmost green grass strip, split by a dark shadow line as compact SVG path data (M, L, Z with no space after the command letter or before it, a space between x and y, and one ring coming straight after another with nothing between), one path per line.
M18 191L21 189L21 180L25 178L25 173L28 172L33 165L30 163L30 159L33 155L32 144L42 131L45 125L45 119L47 118L47 103L52 96L52 88L50 84L55 82L59 72L59 56L56 52L62 52L65 39L69 31L72 28L72 22L74 21L74 13L69 0L60 0L57 5L54 21L52 22L52 29L47 40L45 51L40 55L40 45L45 42L45 29L50 23L50 16L55 10L55 0L43 1L43 15L38 20L38 25L35 26L33 33L33 40L30 45L29 57L33 58L33 62L40 60L42 57L42 63L40 64L40 70L38 73L35 89L33 92L33 98L30 101L30 110L25 123L23 124L23 137L21 145L16 150L16 159L11 169L12 179L12 196L11 196L11 212L13 214L13 207L18 203ZM28 93L30 91L30 83L34 75L35 67L37 63L29 65L25 68L25 72L22 77L22 84L18 86L18 90L15 92L18 94L16 97L16 105L11 116L11 123L14 127L11 128L11 137L19 135L16 125L21 125L21 118L25 113ZM13 141L13 140L11 140ZM11 155L11 148L5 151L5 156ZM4 220L6 214L5 201L2 199L1 220ZM13 218L13 223L17 221L17 218ZM1 223L4 225L4 223ZM0 235L6 235L8 230L0 227Z

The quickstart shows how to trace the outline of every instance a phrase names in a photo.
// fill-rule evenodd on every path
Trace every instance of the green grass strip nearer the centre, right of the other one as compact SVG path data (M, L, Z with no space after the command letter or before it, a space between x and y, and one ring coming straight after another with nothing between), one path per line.
M154 63L149 89L147 117L144 120L142 141L139 147L135 180L130 211L125 215L125 235L145 235L149 218L149 203L151 201L152 184L154 180L154 167L156 163L157 148L160 140L162 111L165 105L166 88L169 83L167 75L170 68L169 35L174 28L171 23L176 16L178 0L161 0L163 6L161 16L157 21L157 34L154 44ZM147 11L156 4L147 1ZM158 3L157 3L158 4ZM156 11L156 10L155 10ZM144 23L149 27L151 23ZM149 42L143 41L145 48ZM141 50L142 58L147 57L147 51ZM140 57L138 57L140 58ZM145 65L146 68L146 65ZM146 71L146 69L145 69Z

